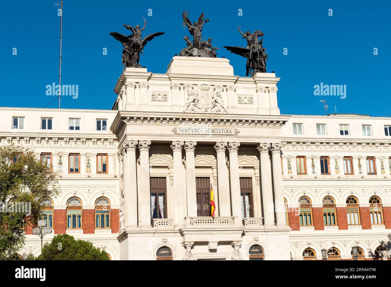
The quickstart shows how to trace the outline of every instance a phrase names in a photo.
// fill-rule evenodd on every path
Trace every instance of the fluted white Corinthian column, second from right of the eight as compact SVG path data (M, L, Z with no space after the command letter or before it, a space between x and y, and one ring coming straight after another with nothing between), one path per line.
M261 166L261 187L264 206L264 225L274 226L273 190L271 184L271 166L269 158L270 144L263 143L258 146Z

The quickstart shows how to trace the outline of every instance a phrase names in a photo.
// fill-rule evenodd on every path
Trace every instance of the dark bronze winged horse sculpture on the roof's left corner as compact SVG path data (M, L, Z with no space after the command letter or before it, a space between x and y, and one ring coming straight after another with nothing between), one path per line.
M128 30L132 31L132 34L129 36L122 35L117 32L111 32L110 35L115 39L122 43L124 49L122 50L122 68L125 69L127 67L140 68L140 52L143 55L143 49L145 45L151 41L154 37L163 35L163 32L158 32L154 34L150 34L144 39L141 37L141 32L145 29L147 25L147 21L144 20L143 28L140 28L140 25L136 25L135 27L131 27L130 25L124 24L124 27Z

